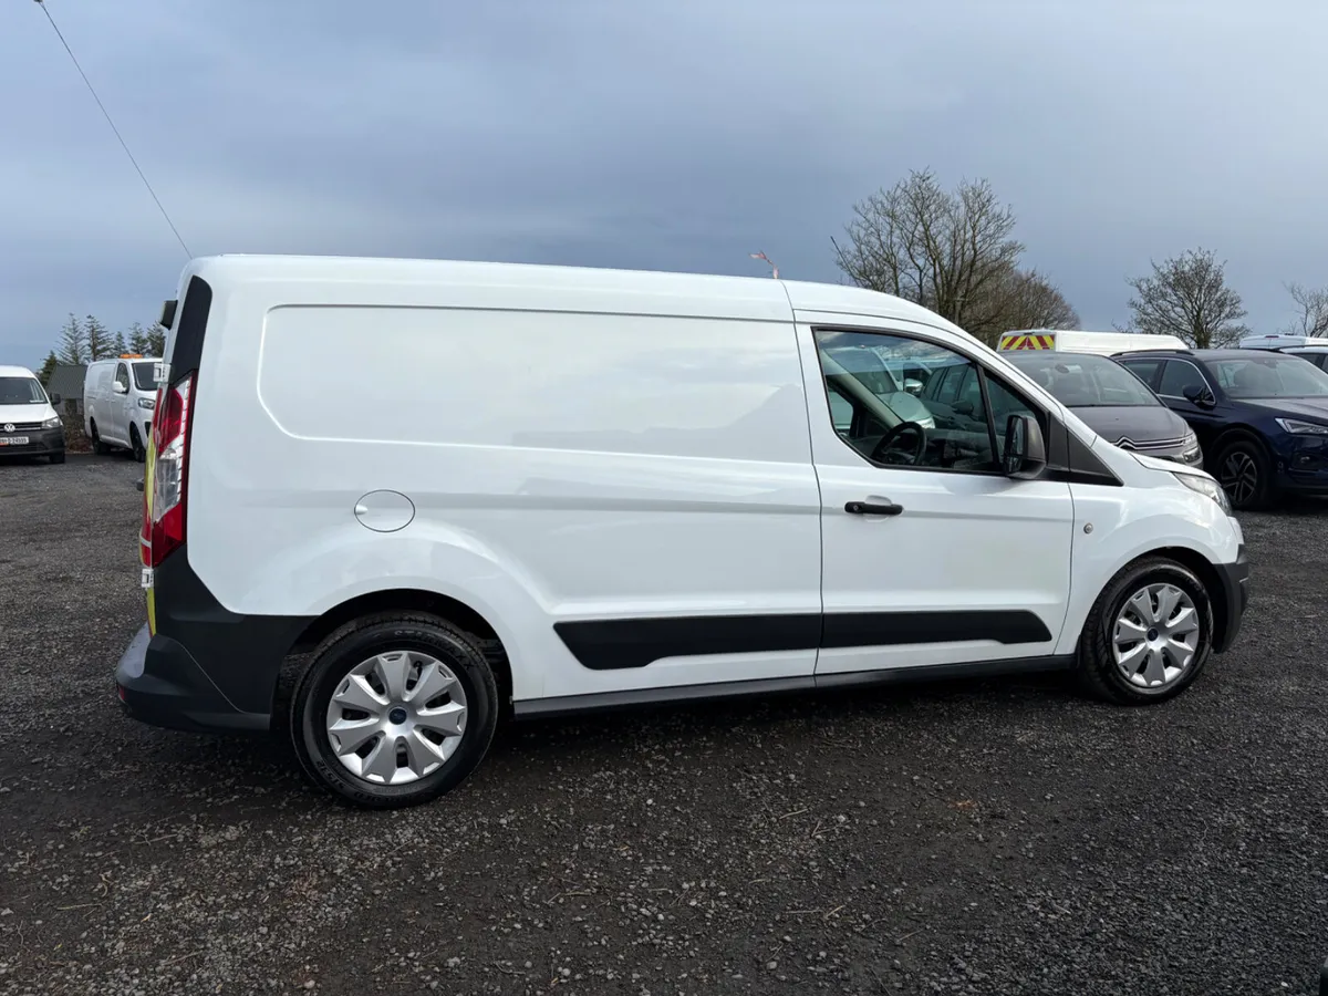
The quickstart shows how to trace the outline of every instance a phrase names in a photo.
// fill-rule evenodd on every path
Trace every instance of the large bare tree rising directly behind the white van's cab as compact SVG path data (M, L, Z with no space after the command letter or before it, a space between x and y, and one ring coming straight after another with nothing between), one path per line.
M947 191L930 170L914 171L853 211L847 240L831 242L839 268L859 287L916 301L987 341L1011 328L1077 320L1054 286L1019 268L1015 214L987 181Z

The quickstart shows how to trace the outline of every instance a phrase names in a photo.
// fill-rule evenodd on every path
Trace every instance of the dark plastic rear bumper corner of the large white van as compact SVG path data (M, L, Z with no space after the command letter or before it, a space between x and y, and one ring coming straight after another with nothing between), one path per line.
M270 713L235 705L175 640L153 636L145 624L116 665L125 712L154 726L194 733L264 732Z

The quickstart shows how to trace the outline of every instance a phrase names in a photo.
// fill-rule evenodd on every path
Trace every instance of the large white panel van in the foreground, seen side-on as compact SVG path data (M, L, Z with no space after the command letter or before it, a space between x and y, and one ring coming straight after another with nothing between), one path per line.
M178 293L120 697L288 728L361 805L453 788L509 713L1056 668L1157 703L1240 624L1211 477L894 297L263 256ZM977 402L900 418L859 345Z

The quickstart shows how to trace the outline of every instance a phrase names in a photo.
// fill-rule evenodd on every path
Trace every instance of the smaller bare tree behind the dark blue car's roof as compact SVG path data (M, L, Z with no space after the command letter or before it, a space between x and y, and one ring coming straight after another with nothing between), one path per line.
M1226 262L1208 250L1186 250L1153 263L1149 276L1127 282L1131 327L1138 332L1179 336L1195 349L1231 345L1250 329L1242 324L1240 295L1227 287Z

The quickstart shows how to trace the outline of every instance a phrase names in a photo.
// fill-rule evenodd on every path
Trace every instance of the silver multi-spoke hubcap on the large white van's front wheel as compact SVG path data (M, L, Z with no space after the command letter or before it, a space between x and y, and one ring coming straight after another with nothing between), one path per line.
M1116 667L1131 685L1158 692L1174 684L1199 649L1199 611L1175 584L1149 584L1126 599L1112 635Z

